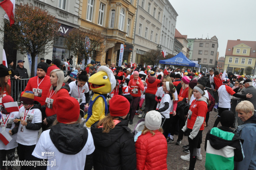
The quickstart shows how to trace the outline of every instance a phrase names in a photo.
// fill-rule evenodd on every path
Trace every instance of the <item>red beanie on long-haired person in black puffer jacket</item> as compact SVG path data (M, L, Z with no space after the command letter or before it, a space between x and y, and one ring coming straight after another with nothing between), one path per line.
M125 97L115 95L109 100L109 112L111 116L125 116L129 110L130 102Z

